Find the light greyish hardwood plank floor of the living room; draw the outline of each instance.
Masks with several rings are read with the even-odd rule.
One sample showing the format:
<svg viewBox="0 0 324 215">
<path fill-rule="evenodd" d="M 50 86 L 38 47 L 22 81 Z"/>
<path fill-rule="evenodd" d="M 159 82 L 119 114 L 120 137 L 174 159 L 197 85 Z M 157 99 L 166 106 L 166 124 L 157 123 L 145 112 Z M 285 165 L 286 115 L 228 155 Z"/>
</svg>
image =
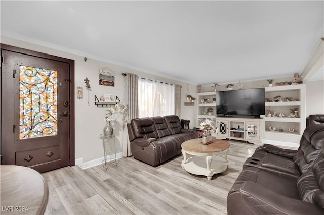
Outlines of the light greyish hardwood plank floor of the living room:
<svg viewBox="0 0 324 215">
<path fill-rule="evenodd" d="M 229 167 L 207 180 L 181 168 L 183 156 L 158 167 L 133 157 L 43 173 L 50 195 L 45 214 L 227 214 L 227 193 L 256 145 L 230 142 Z"/>
</svg>

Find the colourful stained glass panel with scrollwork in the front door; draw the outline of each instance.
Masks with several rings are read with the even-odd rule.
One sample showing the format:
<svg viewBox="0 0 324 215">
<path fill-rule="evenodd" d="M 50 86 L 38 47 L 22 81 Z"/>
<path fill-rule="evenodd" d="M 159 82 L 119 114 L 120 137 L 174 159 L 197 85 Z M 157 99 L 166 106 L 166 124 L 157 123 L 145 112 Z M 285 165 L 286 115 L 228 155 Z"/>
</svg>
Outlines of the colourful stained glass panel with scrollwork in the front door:
<svg viewBox="0 0 324 215">
<path fill-rule="evenodd" d="M 19 139 L 57 135 L 57 74 L 19 67 Z"/>
</svg>

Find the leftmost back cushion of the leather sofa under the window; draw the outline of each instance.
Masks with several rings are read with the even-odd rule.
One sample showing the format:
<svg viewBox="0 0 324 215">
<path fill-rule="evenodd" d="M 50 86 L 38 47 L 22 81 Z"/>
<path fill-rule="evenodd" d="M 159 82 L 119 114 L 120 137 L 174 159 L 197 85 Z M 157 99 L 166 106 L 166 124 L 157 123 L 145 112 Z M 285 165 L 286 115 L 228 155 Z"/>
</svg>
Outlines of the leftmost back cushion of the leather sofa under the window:
<svg viewBox="0 0 324 215">
<path fill-rule="evenodd" d="M 135 118 L 131 121 L 136 137 L 158 138 L 154 122 L 150 117 Z"/>
</svg>

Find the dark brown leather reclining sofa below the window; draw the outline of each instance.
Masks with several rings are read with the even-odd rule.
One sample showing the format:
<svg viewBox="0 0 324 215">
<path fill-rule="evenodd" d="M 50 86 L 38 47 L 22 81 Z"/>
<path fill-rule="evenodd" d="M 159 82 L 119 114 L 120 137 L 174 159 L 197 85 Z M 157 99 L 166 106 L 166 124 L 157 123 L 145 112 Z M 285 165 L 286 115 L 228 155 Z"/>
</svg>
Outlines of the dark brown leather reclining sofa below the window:
<svg viewBox="0 0 324 215">
<path fill-rule="evenodd" d="M 184 141 L 199 138 L 193 129 L 182 129 L 178 116 L 144 117 L 127 124 L 135 159 L 153 167 L 181 154 Z"/>
</svg>

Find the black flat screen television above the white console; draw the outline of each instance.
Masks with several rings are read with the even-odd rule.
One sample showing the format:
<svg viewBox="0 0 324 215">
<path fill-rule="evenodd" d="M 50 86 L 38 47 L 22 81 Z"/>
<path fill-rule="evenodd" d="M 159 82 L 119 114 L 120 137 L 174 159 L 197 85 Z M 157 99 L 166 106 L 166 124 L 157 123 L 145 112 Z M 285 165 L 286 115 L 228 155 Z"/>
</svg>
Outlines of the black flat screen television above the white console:
<svg viewBox="0 0 324 215">
<path fill-rule="evenodd" d="M 218 117 L 260 117 L 264 115 L 264 88 L 216 92 Z"/>
</svg>

